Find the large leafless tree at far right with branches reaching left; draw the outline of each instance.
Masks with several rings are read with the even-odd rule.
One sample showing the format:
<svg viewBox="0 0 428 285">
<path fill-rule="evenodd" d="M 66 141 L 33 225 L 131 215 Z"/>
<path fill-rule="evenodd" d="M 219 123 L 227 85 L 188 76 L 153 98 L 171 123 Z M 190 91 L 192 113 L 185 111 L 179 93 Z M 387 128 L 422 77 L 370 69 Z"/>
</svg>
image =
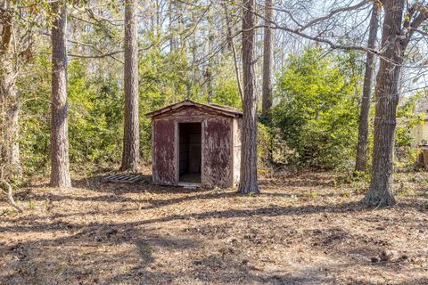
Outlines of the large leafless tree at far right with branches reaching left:
<svg viewBox="0 0 428 285">
<path fill-rule="evenodd" d="M 366 204 L 388 206 L 395 203 L 392 192 L 392 158 L 396 113 L 399 102 L 399 78 L 405 60 L 407 45 L 428 18 L 428 6 L 425 3 L 407 3 L 404 0 L 383 0 L 383 36 L 379 49 L 362 46 L 356 43 L 336 42 L 338 36 L 332 28 L 334 21 L 343 21 L 338 17 L 344 12 L 365 9 L 369 1 L 363 0 L 358 4 L 335 8 L 324 16 L 306 21 L 293 17 L 289 9 L 276 8 L 292 19 L 295 27 L 271 22 L 273 28 L 284 30 L 295 36 L 327 45 L 333 49 L 354 50 L 373 53 L 380 58 L 380 68 L 376 76 L 375 86 L 375 117 L 374 117 L 374 151 L 372 159 L 372 177 L 369 191 L 363 200 Z M 407 11 L 405 11 L 407 4 Z M 259 15 L 263 17 L 262 15 Z M 334 20 L 335 19 L 335 20 Z M 317 28 L 317 27 L 321 28 Z M 266 27 L 266 26 L 264 26 Z M 338 27 L 338 25 L 336 25 Z M 317 34 L 313 35 L 312 32 Z M 349 35 L 349 33 L 347 33 Z"/>
</svg>

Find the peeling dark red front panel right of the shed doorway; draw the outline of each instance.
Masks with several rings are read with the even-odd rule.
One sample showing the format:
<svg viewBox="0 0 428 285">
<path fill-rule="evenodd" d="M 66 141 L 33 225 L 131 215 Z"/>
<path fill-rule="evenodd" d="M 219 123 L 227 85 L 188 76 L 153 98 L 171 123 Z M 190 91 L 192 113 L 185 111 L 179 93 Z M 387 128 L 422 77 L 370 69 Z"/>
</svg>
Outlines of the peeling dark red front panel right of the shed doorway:
<svg viewBox="0 0 428 285">
<path fill-rule="evenodd" d="M 232 119 L 207 118 L 202 127 L 202 185 L 231 187 L 233 184 Z"/>
</svg>

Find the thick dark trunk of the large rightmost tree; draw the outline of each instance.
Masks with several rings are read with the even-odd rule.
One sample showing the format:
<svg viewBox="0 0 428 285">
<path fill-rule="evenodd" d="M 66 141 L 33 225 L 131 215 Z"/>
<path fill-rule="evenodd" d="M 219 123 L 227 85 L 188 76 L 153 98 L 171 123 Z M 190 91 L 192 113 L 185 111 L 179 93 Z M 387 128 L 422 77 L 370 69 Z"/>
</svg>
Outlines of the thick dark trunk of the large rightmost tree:
<svg viewBox="0 0 428 285">
<path fill-rule="evenodd" d="M 395 204 L 392 191 L 393 148 L 399 103 L 399 72 L 405 46 L 398 37 L 403 20 L 404 1 L 384 1 L 382 46 L 379 72 L 376 77 L 374 117 L 373 169 L 370 188 L 363 201 L 369 205 Z"/>
</svg>

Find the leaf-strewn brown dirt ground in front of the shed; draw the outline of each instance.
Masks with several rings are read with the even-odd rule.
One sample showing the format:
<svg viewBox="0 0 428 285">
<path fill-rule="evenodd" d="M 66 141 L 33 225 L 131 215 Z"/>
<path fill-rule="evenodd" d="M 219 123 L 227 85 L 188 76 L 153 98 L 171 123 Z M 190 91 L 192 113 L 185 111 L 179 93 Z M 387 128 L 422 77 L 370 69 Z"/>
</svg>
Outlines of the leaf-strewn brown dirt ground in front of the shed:
<svg viewBox="0 0 428 285">
<path fill-rule="evenodd" d="M 428 284 L 427 174 L 398 175 L 391 208 L 332 173 L 257 197 L 101 178 L 0 201 L 0 284 Z"/>
</svg>

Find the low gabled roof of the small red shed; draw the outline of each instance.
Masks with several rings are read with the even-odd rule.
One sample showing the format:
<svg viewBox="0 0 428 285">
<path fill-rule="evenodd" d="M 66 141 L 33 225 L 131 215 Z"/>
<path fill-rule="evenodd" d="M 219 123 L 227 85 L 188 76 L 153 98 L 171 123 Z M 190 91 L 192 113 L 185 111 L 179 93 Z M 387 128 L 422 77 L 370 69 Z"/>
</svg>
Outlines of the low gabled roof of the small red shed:
<svg viewBox="0 0 428 285">
<path fill-rule="evenodd" d="M 215 104 L 202 104 L 199 102 L 194 102 L 192 100 L 185 100 L 182 102 L 177 102 L 175 104 L 169 105 L 167 107 L 161 108 L 159 110 L 154 110 L 150 113 L 145 114 L 146 117 L 153 118 L 160 115 L 167 114 L 169 112 L 175 112 L 177 110 L 184 109 L 186 107 L 195 107 L 201 110 L 210 111 L 218 113 L 226 117 L 241 117 L 243 112 L 232 107 L 219 106 Z"/>
</svg>

